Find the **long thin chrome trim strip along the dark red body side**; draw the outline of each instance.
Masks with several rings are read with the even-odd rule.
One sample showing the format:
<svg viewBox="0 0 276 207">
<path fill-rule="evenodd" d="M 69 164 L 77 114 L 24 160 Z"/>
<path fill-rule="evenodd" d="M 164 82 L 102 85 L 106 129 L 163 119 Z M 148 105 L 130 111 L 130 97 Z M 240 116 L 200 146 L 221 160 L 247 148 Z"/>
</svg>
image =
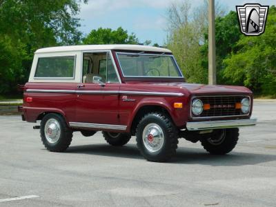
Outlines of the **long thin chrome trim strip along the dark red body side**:
<svg viewBox="0 0 276 207">
<path fill-rule="evenodd" d="M 128 91 L 128 90 L 55 90 L 55 89 L 27 89 L 26 92 L 57 92 L 57 93 L 77 93 L 77 94 L 128 94 L 128 95 L 160 95 L 160 96 L 184 96 L 181 92 L 148 92 L 148 91 Z"/>
</svg>

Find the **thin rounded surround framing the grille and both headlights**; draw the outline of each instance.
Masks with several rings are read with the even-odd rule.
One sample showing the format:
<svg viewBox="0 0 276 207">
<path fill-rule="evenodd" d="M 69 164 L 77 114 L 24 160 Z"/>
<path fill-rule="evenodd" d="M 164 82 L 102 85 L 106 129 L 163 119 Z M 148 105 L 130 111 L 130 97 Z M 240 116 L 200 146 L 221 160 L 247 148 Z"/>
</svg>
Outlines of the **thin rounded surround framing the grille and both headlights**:
<svg viewBox="0 0 276 207">
<path fill-rule="evenodd" d="M 246 115 L 232 115 L 232 116 L 217 116 L 217 117 L 194 117 L 193 116 L 193 112 L 192 112 L 192 103 L 193 100 L 196 98 L 200 98 L 200 97 L 248 97 L 249 98 L 249 103 L 250 103 L 250 110 L 248 110 L 248 113 Z M 190 117 L 192 119 L 215 119 L 215 118 L 223 118 L 223 117 L 246 117 L 250 114 L 251 111 L 251 97 L 248 95 L 198 95 L 198 96 L 194 96 L 192 97 L 192 99 L 190 99 Z"/>
</svg>

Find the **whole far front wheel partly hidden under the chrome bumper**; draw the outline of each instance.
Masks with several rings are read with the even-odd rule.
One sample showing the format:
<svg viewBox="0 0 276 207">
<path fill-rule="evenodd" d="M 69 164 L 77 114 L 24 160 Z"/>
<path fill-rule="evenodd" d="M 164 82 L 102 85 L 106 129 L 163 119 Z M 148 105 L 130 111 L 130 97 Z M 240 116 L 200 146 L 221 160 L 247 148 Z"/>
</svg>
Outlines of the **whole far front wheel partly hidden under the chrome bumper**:
<svg viewBox="0 0 276 207">
<path fill-rule="evenodd" d="M 201 145 L 213 155 L 225 155 L 235 148 L 239 139 L 239 128 L 215 130 L 210 137 L 201 139 Z"/>
</svg>

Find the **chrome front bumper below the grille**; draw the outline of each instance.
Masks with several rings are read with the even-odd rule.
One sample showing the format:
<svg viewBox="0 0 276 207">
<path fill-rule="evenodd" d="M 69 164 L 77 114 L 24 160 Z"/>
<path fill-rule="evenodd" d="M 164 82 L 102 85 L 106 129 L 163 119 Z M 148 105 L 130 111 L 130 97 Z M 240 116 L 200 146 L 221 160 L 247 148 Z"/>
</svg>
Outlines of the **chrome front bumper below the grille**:
<svg viewBox="0 0 276 207">
<path fill-rule="evenodd" d="M 223 120 L 223 121 L 196 121 L 187 122 L 186 128 L 189 131 L 193 130 L 210 130 L 216 128 L 236 128 L 241 126 L 253 126 L 256 125 L 257 119 L 235 119 L 235 120 Z"/>
</svg>

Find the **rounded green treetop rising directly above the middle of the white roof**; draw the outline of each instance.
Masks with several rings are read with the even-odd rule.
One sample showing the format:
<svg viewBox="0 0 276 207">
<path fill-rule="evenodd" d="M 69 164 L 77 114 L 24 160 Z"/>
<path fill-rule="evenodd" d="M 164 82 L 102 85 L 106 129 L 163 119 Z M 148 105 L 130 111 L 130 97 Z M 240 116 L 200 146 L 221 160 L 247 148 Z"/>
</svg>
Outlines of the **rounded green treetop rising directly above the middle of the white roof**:
<svg viewBox="0 0 276 207">
<path fill-rule="evenodd" d="M 128 34 L 127 30 L 119 27 L 117 30 L 99 28 L 83 38 L 84 44 L 137 44 L 139 43 L 134 33 Z"/>
</svg>

